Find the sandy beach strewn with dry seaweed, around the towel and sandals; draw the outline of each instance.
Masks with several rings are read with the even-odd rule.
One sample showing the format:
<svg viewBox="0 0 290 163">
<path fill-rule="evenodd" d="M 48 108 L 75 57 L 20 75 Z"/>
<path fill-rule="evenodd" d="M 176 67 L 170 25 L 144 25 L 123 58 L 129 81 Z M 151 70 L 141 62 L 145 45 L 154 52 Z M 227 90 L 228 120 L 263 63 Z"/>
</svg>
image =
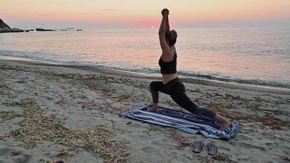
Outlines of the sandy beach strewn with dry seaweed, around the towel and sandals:
<svg viewBox="0 0 290 163">
<path fill-rule="evenodd" d="M 119 116 L 159 77 L 0 60 L 0 163 L 289 163 L 290 91 L 181 79 L 198 105 L 241 123 L 230 141 Z M 160 93 L 159 105 L 183 110 Z M 183 110 L 185 111 L 185 110 Z M 200 154 L 192 143 L 205 143 Z M 207 154 L 214 142 L 218 154 Z"/>
</svg>

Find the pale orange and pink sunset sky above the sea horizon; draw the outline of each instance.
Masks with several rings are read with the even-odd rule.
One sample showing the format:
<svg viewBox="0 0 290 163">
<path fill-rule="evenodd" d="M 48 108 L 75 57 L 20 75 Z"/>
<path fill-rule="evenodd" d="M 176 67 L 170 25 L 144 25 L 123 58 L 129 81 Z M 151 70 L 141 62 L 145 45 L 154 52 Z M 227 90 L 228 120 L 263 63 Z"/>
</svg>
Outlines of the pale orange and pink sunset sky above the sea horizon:
<svg viewBox="0 0 290 163">
<path fill-rule="evenodd" d="M 290 27 L 290 0 L 3 0 L 0 18 L 19 28 L 149 28 L 163 8 L 174 27 Z"/>
</svg>

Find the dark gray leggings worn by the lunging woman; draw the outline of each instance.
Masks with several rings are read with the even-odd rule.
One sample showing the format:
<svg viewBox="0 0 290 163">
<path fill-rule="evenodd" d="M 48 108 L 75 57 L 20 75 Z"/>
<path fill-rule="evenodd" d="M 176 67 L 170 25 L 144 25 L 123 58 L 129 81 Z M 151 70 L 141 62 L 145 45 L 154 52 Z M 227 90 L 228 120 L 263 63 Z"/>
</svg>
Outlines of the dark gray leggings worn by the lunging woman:
<svg viewBox="0 0 290 163">
<path fill-rule="evenodd" d="M 172 81 L 163 84 L 162 81 L 152 81 L 150 83 L 150 90 L 153 98 L 153 103 L 158 103 L 159 93 L 158 91 L 168 94 L 183 109 L 194 113 L 204 115 L 210 118 L 215 118 L 216 113 L 211 109 L 206 109 L 194 104 L 185 94 L 184 84 L 179 78 L 175 78 Z"/>
</svg>

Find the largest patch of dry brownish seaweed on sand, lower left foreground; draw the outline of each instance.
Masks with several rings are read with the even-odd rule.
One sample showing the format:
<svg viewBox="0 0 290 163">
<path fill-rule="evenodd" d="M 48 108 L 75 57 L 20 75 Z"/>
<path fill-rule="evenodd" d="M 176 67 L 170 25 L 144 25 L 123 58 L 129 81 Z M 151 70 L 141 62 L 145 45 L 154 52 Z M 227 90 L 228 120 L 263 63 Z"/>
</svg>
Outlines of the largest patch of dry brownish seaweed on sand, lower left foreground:
<svg viewBox="0 0 290 163">
<path fill-rule="evenodd" d="M 107 163 L 126 162 L 128 159 L 129 149 L 126 142 L 114 140 L 116 135 L 105 129 L 104 126 L 96 126 L 91 129 L 69 129 L 64 125 L 63 119 L 54 115 L 45 115 L 45 111 L 36 102 L 21 101 L 4 103 L 4 105 L 22 107 L 25 117 L 20 121 L 22 127 L 5 134 L 5 137 L 11 136 L 26 143 L 42 143 L 43 140 L 50 140 L 68 146 L 68 149 L 64 149 L 60 154 L 54 156 L 58 158 L 71 156 L 72 154 L 69 154 L 68 151 L 74 151 L 73 155 L 78 155 L 79 151 L 86 150 L 97 154 Z"/>
</svg>

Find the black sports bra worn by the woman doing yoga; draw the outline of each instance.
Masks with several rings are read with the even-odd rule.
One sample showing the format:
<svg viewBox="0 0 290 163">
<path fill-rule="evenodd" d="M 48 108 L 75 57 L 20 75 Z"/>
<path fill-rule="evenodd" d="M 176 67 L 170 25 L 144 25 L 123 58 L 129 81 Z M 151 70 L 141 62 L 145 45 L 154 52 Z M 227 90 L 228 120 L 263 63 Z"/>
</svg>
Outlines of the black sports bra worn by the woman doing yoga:
<svg viewBox="0 0 290 163">
<path fill-rule="evenodd" d="M 160 56 L 159 59 L 159 66 L 160 66 L 160 70 L 161 70 L 161 74 L 175 74 L 176 73 L 176 58 L 177 58 L 177 54 L 176 52 L 173 53 L 174 54 L 174 59 L 173 61 L 170 62 L 164 62 L 162 60 L 162 55 Z"/>
</svg>

